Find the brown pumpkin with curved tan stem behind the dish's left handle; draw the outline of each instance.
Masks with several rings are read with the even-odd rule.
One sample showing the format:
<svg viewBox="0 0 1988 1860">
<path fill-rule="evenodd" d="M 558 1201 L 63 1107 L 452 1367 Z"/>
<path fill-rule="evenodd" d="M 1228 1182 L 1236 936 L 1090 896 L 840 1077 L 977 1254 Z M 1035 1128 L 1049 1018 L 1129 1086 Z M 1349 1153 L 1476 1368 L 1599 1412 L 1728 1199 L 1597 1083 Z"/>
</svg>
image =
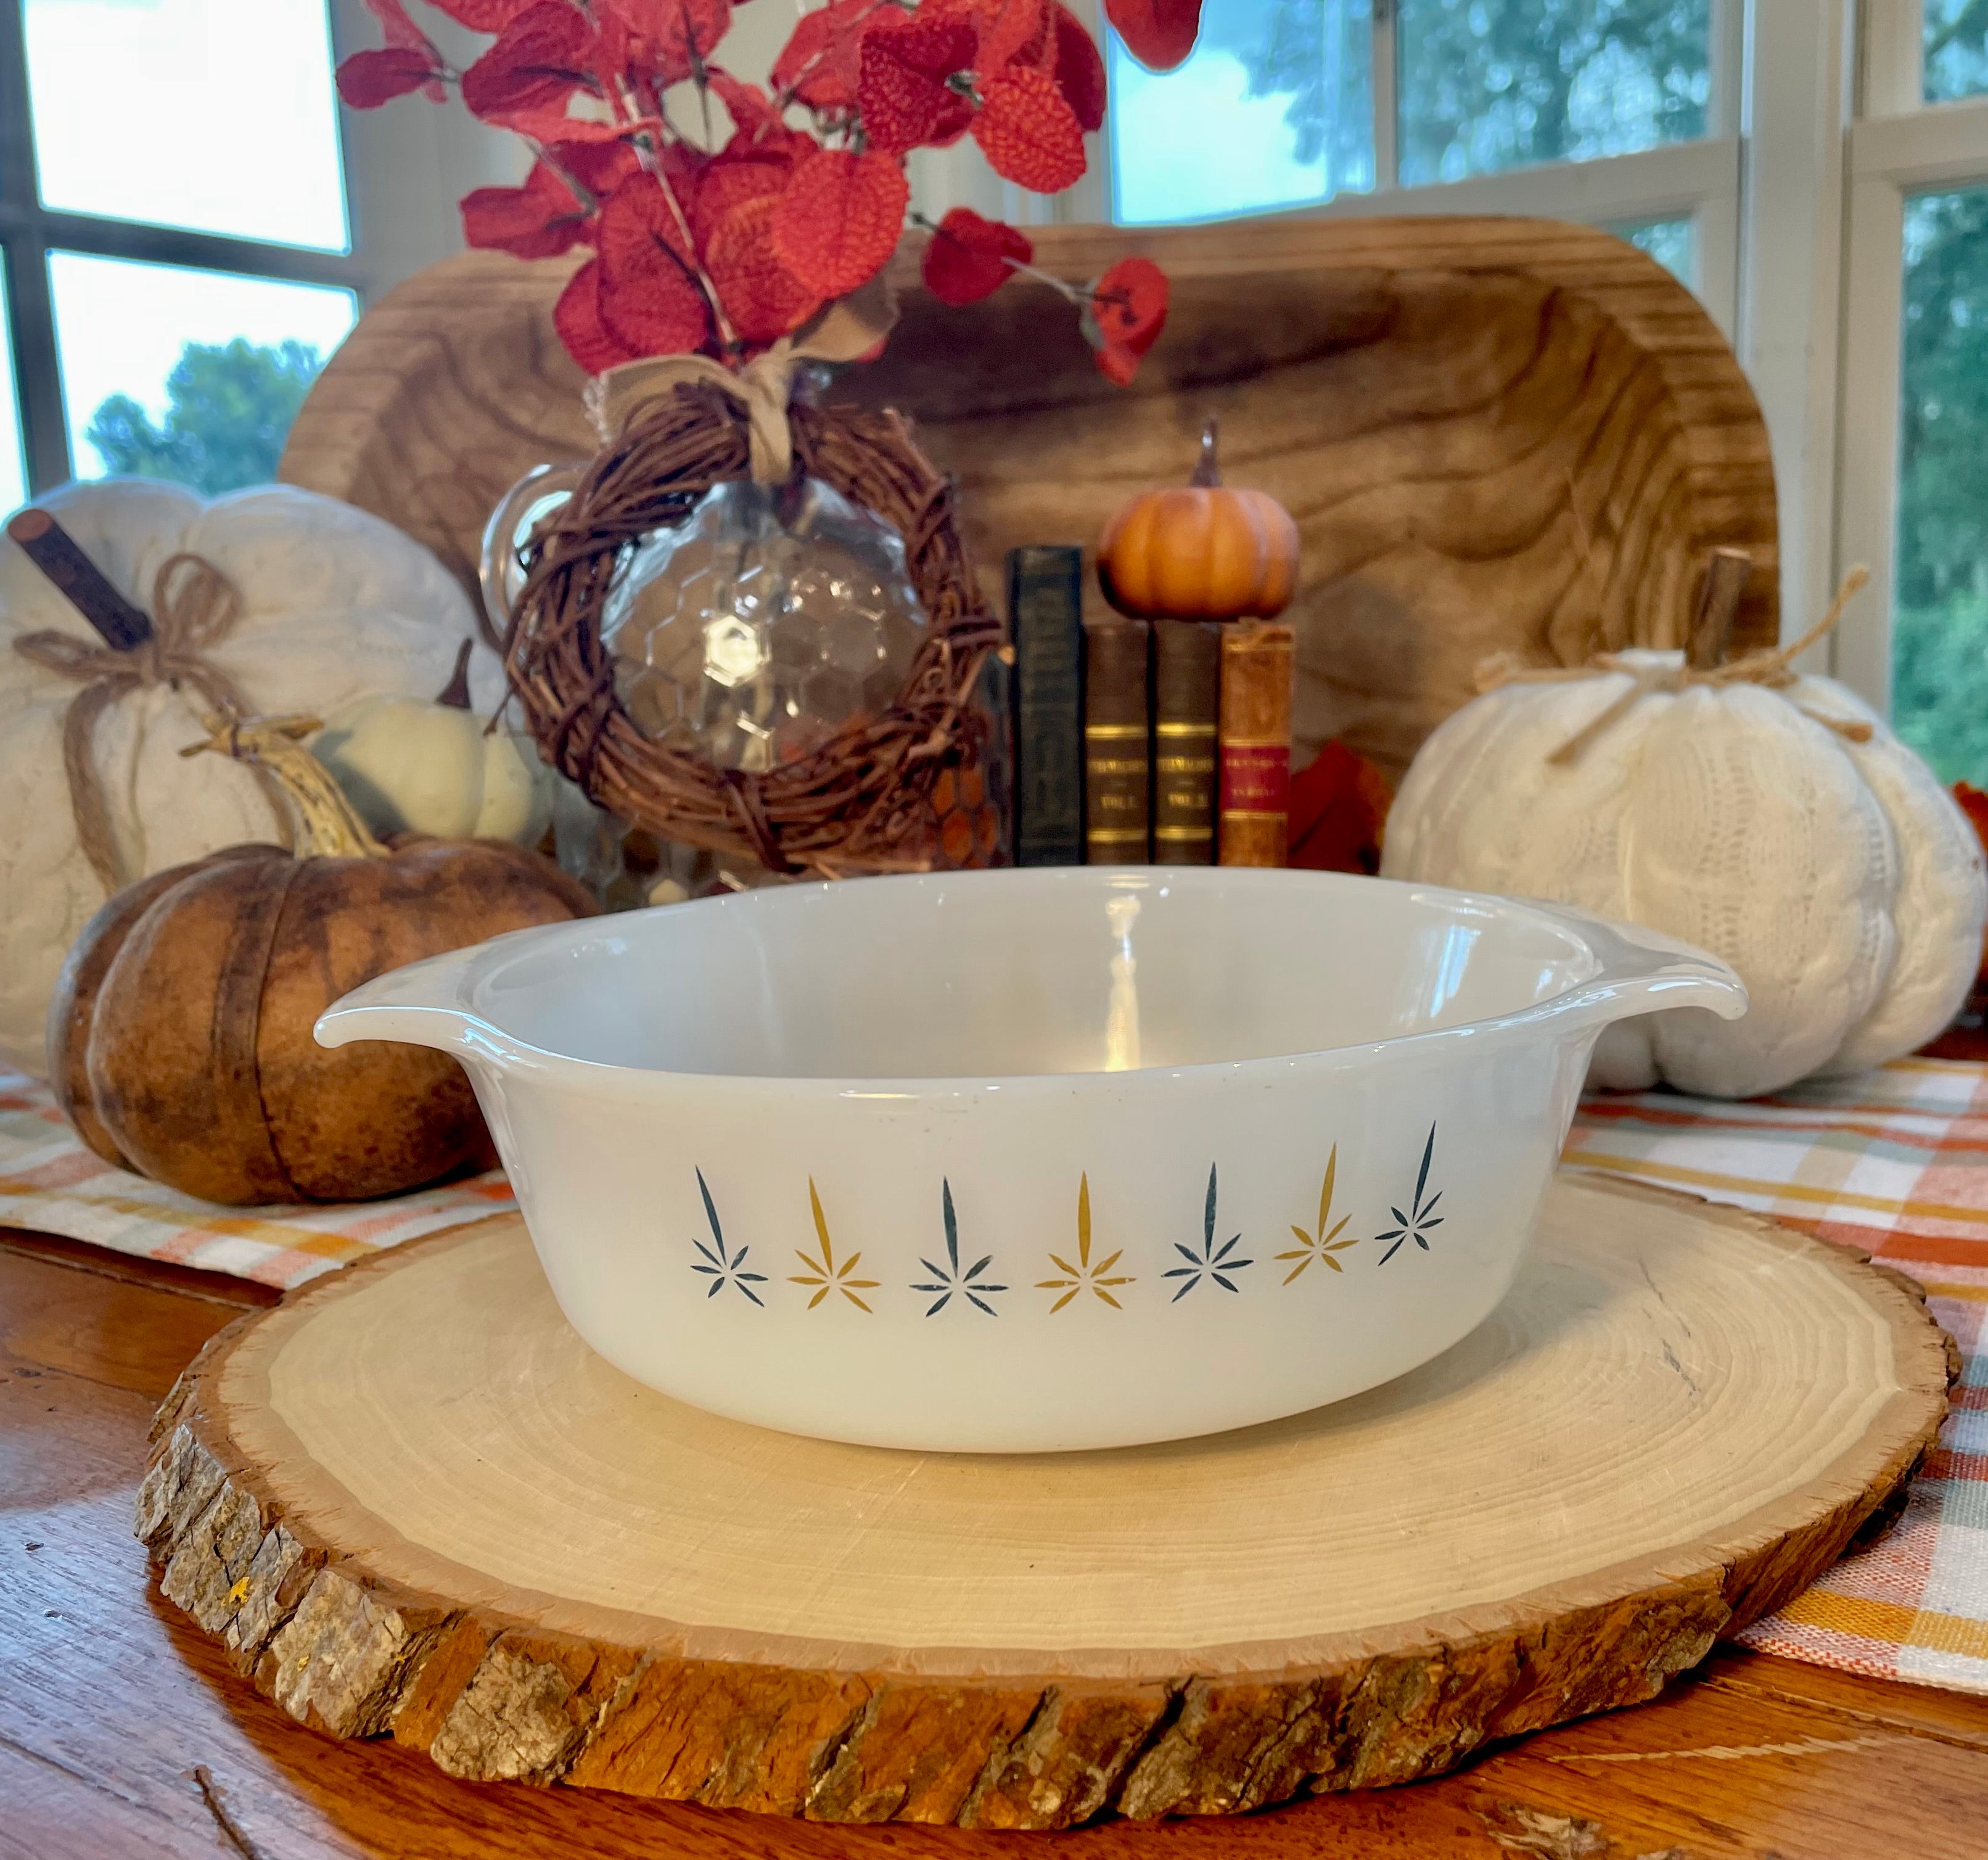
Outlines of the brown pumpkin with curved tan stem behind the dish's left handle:
<svg viewBox="0 0 1988 1860">
<path fill-rule="evenodd" d="M 364 828 L 300 738 L 316 718 L 217 724 L 185 754 L 266 768 L 296 853 L 231 845 L 119 891 L 70 949 L 48 1068 L 105 1162 L 203 1202 L 360 1202 L 495 1162 L 463 1068 L 312 1024 L 404 963 L 503 931 L 592 915 L 549 859 L 491 839 Z"/>
</svg>

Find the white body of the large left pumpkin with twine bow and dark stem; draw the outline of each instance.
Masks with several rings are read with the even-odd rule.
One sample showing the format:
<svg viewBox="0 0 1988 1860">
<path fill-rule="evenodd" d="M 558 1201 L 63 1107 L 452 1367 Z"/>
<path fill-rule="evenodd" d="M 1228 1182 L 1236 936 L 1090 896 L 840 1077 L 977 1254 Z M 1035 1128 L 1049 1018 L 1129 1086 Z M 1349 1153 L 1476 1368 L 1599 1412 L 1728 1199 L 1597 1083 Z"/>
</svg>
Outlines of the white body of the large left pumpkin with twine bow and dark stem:
<svg viewBox="0 0 1988 1860">
<path fill-rule="evenodd" d="M 195 551 L 241 591 L 243 611 L 205 652 L 258 712 L 324 714 L 372 692 L 427 696 L 475 633 L 469 597 L 435 557 L 334 497 L 268 485 L 205 501 L 181 485 L 109 479 L 36 499 L 137 607 L 151 609 L 167 557 Z M 40 1072 L 48 997 L 62 957 L 105 887 L 83 857 L 62 764 L 62 726 L 82 686 L 12 651 L 42 629 L 99 647 L 89 623 L 0 533 L 0 1064 Z M 471 690 L 503 692 L 479 649 Z M 155 684 L 111 702 L 91 748 L 125 879 L 286 826 L 250 772 L 183 760 L 205 704 Z"/>
</svg>

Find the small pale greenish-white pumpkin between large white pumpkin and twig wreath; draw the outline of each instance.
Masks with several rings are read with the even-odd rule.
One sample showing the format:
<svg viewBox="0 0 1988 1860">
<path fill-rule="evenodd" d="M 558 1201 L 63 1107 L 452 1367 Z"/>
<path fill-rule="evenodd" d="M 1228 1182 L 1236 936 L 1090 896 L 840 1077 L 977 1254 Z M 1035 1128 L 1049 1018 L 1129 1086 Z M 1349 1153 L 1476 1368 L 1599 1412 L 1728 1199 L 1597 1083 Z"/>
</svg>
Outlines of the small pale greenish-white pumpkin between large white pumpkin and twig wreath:
<svg viewBox="0 0 1988 1860">
<path fill-rule="evenodd" d="M 427 702 L 356 698 L 334 710 L 312 754 L 380 836 L 537 845 L 553 820 L 553 770 L 529 736 L 491 730 L 469 708 L 461 670 Z"/>
</svg>

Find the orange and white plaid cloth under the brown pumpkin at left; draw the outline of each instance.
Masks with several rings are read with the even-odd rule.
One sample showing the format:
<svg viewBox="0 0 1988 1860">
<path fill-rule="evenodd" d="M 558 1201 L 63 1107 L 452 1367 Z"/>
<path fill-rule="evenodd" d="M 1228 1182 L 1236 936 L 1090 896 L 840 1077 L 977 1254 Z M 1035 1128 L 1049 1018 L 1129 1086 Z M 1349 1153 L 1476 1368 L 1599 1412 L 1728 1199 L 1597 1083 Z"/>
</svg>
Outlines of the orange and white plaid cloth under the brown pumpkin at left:
<svg viewBox="0 0 1988 1860">
<path fill-rule="evenodd" d="M 215 1208 L 85 1150 L 46 1084 L 0 1068 L 0 1225 L 87 1239 L 288 1291 L 380 1247 L 511 1208 L 493 1170 L 392 1202 Z"/>
</svg>

